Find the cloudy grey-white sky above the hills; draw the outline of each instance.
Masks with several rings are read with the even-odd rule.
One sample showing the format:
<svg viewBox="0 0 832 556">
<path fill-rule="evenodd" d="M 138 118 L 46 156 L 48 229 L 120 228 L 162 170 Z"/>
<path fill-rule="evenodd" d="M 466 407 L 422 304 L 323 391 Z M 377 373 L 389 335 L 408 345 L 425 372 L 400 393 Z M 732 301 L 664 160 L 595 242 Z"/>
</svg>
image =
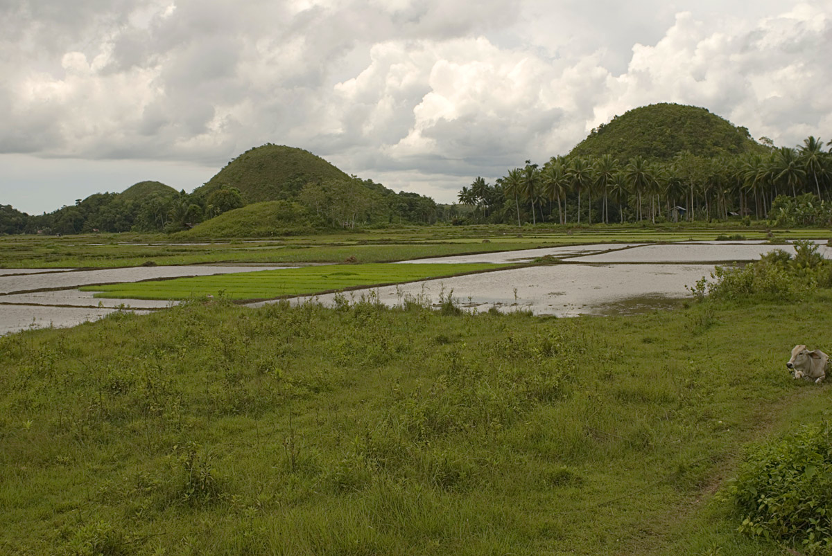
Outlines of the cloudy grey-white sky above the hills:
<svg viewBox="0 0 832 556">
<path fill-rule="evenodd" d="M 832 0 L 0 0 L 0 204 L 265 143 L 449 203 L 656 102 L 832 140 L 830 52 Z"/>
</svg>

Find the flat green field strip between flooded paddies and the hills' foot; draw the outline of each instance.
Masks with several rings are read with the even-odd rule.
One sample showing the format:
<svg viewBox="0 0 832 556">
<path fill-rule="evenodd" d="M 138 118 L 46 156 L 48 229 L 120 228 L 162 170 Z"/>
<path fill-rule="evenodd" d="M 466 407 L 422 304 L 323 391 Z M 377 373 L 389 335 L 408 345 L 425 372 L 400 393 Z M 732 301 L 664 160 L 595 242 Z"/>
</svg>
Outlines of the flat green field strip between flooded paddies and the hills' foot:
<svg viewBox="0 0 832 556">
<path fill-rule="evenodd" d="M 570 234 L 570 230 L 572 233 Z M 0 237 L 0 268 L 111 268 L 144 263 L 387 263 L 413 258 L 482 253 L 563 244 L 713 240 L 720 235 L 766 239 L 765 229 L 703 225 L 681 228 L 618 227 L 569 229 L 538 226 L 433 226 L 368 230 L 362 234 L 317 235 L 179 244 L 168 236 Z M 830 239 L 830 230 L 774 230 L 778 239 Z M 483 242 L 488 243 L 483 243 Z"/>
</svg>

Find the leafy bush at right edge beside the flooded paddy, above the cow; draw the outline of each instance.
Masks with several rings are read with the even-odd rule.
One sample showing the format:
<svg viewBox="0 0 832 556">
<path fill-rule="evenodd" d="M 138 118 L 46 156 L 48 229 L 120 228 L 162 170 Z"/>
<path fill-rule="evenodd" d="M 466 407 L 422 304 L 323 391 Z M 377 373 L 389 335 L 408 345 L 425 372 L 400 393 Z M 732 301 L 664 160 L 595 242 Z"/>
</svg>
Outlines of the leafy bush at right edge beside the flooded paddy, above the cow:
<svg viewBox="0 0 832 556">
<path fill-rule="evenodd" d="M 711 279 L 689 287 L 698 300 L 787 301 L 815 288 L 832 288 L 832 261 L 811 241 L 795 241 L 795 256 L 775 249 L 741 268 L 716 267 Z"/>
</svg>

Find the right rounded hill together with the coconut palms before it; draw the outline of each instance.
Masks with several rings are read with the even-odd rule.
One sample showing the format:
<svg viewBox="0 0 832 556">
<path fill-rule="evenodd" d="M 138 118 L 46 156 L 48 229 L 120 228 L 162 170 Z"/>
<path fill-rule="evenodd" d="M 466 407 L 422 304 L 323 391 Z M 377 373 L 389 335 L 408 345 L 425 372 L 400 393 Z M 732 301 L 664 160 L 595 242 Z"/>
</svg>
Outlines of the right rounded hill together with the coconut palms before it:
<svg viewBox="0 0 832 556">
<path fill-rule="evenodd" d="M 832 219 L 832 141 L 796 147 L 757 142 L 704 108 L 671 104 L 628 111 L 568 155 L 508 170 L 493 185 L 463 187 L 459 202 L 483 223 L 593 224 L 667 220 Z"/>
</svg>

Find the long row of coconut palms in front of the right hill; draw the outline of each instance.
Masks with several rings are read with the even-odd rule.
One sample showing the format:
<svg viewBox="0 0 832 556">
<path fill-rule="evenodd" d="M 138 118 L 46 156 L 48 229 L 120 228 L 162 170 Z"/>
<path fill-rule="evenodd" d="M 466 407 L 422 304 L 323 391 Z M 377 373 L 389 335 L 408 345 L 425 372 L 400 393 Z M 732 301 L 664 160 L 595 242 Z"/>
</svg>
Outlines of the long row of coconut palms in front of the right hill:
<svg viewBox="0 0 832 556">
<path fill-rule="evenodd" d="M 806 194 L 818 205 L 827 204 L 832 195 L 832 153 L 814 136 L 796 148 L 770 145 L 765 153 L 713 158 L 684 151 L 671 160 L 565 155 L 553 156 L 542 166 L 527 160 L 494 185 L 478 177 L 463 187 L 458 200 L 473 208 L 475 222 L 519 226 L 774 219 L 775 213 L 794 205 L 778 197 L 800 199 Z"/>
</svg>

